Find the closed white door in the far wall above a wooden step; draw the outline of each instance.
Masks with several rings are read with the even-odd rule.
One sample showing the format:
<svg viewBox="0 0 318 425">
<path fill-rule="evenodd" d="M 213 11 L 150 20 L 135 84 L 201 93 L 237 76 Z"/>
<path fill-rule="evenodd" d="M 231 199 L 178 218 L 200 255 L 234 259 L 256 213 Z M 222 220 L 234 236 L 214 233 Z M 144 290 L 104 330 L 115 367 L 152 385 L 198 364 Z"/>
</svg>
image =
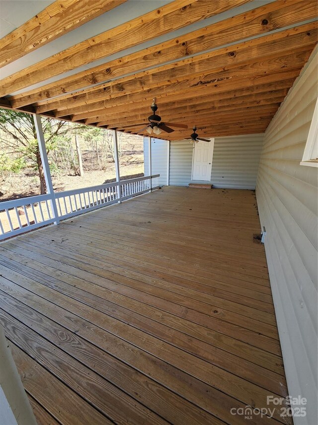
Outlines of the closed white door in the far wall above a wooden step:
<svg viewBox="0 0 318 425">
<path fill-rule="evenodd" d="M 214 139 L 211 142 L 194 142 L 192 180 L 211 180 Z"/>
</svg>

